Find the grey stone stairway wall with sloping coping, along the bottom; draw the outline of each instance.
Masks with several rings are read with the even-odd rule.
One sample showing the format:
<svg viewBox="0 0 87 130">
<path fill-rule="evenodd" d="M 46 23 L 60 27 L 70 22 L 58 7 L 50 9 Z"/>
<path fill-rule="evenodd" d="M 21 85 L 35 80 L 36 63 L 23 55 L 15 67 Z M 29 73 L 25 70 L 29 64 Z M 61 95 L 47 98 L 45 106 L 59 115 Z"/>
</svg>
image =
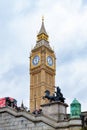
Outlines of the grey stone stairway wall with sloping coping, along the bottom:
<svg viewBox="0 0 87 130">
<path fill-rule="evenodd" d="M 0 130 L 79 130 L 80 119 L 57 122 L 43 114 L 33 115 L 12 108 L 0 109 Z"/>
</svg>

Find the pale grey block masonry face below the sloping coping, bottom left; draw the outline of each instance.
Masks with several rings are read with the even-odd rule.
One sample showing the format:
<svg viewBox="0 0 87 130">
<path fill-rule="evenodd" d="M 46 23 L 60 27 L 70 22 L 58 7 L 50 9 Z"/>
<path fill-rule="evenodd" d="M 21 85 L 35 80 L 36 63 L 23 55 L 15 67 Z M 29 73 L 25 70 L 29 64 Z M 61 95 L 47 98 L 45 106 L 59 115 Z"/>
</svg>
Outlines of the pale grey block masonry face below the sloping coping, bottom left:
<svg viewBox="0 0 87 130">
<path fill-rule="evenodd" d="M 22 114 L 26 112 L 21 112 L 22 114 L 18 112 L 19 115 L 17 115 L 16 112 L 9 110 L 0 112 L 0 130 L 54 130 L 44 122 L 35 122 L 32 115 L 30 115 L 30 120 L 28 117 L 23 117 Z M 26 114 L 29 116 L 28 113 Z"/>
</svg>

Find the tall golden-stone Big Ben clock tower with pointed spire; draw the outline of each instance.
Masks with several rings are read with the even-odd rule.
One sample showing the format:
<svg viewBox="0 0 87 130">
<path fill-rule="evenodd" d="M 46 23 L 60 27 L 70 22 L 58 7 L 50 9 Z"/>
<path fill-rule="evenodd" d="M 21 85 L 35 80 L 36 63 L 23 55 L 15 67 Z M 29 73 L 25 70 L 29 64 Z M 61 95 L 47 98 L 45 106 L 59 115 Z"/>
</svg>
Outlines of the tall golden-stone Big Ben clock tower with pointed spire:
<svg viewBox="0 0 87 130">
<path fill-rule="evenodd" d="M 39 109 L 43 100 L 45 90 L 54 93 L 56 58 L 44 27 L 42 18 L 41 29 L 37 35 L 35 47 L 30 54 L 30 111 Z"/>
</svg>

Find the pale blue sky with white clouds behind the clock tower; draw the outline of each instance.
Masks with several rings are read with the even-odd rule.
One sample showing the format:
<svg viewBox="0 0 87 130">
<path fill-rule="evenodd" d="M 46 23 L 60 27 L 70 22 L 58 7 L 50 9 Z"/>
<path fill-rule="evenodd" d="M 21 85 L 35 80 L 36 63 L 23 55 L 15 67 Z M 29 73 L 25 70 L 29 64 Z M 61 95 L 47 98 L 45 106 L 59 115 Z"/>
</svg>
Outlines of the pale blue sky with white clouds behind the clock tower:
<svg viewBox="0 0 87 130">
<path fill-rule="evenodd" d="M 0 0 L 0 97 L 29 107 L 29 55 L 44 15 L 56 86 L 87 111 L 87 0 Z M 68 108 L 69 111 L 69 108 Z"/>
</svg>

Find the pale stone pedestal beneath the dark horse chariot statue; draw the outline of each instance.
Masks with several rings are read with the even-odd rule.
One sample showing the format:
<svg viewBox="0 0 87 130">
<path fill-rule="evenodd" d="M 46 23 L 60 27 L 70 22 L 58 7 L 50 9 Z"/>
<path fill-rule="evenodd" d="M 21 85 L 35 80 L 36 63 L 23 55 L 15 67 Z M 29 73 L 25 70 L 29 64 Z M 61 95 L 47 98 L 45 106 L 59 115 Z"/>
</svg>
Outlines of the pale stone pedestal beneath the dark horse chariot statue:
<svg viewBox="0 0 87 130">
<path fill-rule="evenodd" d="M 43 115 L 52 118 L 55 121 L 63 121 L 66 119 L 67 107 L 66 103 L 62 102 L 51 102 L 41 105 Z"/>
</svg>

